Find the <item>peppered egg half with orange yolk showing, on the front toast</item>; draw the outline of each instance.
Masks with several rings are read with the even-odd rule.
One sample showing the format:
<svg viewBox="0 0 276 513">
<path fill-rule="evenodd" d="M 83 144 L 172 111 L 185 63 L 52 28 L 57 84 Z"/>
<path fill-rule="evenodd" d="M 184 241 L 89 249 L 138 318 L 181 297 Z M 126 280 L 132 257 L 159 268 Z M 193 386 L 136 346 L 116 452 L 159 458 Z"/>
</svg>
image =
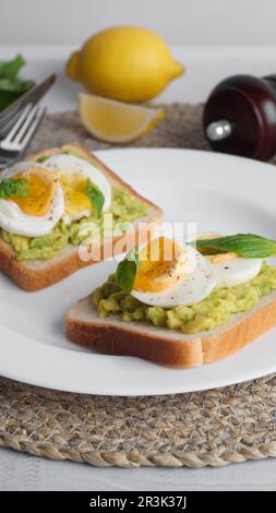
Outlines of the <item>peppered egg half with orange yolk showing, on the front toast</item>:
<svg viewBox="0 0 276 513">
<path fill-rule="evenodd" d="M 195 260 L 190 269 L 189 258 Z M 164 237 L 154 239 L 139 253 L 140 266 L 132 296 L 145 305 L 192 305 L 207 297 L 217 284 L 214 267 L 193 248 Z"/>
</svg>

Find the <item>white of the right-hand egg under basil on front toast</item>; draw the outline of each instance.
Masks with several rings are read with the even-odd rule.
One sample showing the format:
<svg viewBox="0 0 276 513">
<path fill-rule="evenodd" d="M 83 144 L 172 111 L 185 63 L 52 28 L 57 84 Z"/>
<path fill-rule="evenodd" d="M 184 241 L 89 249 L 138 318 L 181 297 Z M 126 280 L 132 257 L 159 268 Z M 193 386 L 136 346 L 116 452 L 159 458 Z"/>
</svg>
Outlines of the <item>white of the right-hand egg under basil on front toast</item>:
<svg viewBox="0 0 276 513">
<path fill-rule="evenodd" d="M 253 279 L 261 271 L 262 259 L 237 258 L 213 264 L 218 287 L 233 287 Z"/>
</svg>

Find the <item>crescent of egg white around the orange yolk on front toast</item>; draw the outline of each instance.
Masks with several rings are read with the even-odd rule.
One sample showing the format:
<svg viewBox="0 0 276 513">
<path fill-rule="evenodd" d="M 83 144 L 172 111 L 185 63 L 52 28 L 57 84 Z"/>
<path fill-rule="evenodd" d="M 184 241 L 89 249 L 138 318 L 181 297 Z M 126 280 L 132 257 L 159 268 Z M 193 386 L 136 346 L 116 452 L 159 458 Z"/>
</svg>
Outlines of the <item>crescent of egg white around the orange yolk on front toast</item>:
<svg viewBox="0 0 276 513">
<path fill-rule="evenodd" d="M 141 293 L 133 289 L 132 296 L 152 307 L 189 306 L 209 296 L 217 285 L 217 274 L 209 261 L 199 251 L 190 248 L 195 259 L 194 269 L 183 279 L 160 293 Z"/>
</svg>

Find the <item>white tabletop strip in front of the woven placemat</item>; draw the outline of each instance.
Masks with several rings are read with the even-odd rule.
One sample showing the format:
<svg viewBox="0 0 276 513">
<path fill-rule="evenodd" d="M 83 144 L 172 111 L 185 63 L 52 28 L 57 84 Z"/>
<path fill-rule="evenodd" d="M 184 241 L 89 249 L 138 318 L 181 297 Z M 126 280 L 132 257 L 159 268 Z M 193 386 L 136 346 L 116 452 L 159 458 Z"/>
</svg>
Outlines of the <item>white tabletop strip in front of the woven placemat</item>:
<svg viewBox="0 0 276 513">
<path fill-rule="evenodd" d="M 0 450 L 0 490 L 202 491 L 273 490 L 276 460 L 223 468 L 94 468 Z"/>
</svg>

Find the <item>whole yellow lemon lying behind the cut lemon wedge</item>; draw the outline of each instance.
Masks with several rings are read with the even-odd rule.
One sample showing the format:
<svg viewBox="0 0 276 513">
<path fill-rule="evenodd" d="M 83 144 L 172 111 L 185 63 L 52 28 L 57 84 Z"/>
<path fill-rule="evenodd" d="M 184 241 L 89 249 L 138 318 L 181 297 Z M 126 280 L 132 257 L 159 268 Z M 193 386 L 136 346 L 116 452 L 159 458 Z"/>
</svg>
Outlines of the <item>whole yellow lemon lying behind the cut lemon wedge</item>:
<svg viewBox="0 0 276 513">
<path fill-rule="evenodd" d="M 159 36 L 134 26 L 99 32 L 67 64 L 68 75 L 89 92 L 130 103 L 153 98 L 183 71 Z"/>
</svg>

